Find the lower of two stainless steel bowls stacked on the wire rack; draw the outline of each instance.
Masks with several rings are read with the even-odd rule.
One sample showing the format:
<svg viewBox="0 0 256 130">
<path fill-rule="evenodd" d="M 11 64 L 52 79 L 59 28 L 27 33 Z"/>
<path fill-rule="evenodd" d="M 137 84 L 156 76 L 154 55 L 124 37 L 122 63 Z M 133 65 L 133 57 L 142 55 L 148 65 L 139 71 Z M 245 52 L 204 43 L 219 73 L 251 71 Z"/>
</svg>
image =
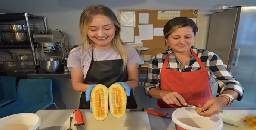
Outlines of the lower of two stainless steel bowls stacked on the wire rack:
<svg viewBox="0 0 256 130">
<path fill-rule="evenodd" d="M 1 41 L 6 44 L 28 43 L 28 33 L 26 32 L 0 32 Z"/>
</svg>

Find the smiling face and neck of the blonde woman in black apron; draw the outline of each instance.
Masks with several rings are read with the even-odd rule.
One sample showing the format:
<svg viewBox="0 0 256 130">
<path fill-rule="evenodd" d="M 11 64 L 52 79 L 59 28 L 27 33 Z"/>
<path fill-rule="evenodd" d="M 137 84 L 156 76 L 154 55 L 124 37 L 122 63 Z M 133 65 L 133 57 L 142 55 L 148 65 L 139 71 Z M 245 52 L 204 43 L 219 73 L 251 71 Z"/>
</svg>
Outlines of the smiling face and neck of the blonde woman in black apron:
<svg viewBox="0 0 256 130">
<path fill-rule="evenodd" d="M 89 25 L 87 35 L 93 41 L 95 48 L 110 49 L 115 35 L 115 25 L 107 16 L 95 15 Z"/>
</svg>

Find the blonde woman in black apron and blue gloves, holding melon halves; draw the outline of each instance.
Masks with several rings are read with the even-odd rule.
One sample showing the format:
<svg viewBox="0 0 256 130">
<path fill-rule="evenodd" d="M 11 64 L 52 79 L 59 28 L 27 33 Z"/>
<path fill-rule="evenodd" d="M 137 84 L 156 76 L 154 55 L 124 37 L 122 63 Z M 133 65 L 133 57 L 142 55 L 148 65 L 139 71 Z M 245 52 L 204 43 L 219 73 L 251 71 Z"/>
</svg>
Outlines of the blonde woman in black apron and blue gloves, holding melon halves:
<svg viewBox="0 0 256 130">
<path fill-rule="evenodd" d="M 138 85 L 141 59 L 136 49 L 122 42 L 114 12 L 102 5 L 89 6 L 81 14 L 79 26 L 83 44 L 71 50 L 67 65 L 73 89 L 82 92 L 79 109 L 90 109 L 90 91 L 96 84 L 110 87 L 116 82 L 126 90 L 126 108 L 137 108 L 130 89 Z"/>
</svg>

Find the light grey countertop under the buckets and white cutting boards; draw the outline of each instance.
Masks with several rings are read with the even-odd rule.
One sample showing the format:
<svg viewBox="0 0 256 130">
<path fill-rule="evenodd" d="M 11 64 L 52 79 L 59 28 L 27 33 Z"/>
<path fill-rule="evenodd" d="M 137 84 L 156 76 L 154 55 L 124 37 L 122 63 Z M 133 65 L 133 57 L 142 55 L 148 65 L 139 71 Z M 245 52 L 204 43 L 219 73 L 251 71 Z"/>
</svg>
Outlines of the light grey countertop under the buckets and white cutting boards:
<svg viewBox="0 0 256 130">
<path fill-rule="evenodd" d="M 175 111 L 175 108 L 162 108 L 162 109 L 153 109 L 157 111 L 166 112 L 172 114 Z M 255 107 L 227 107 L 223 110 L 256 110 Z M 75 109 L 69 110 L 39 110 L 36 112 L 41 118 L 40 130 L 59 130 L 68 119 L 71 113 Z M 90 110 L 81 110 L 81 112 L 87 112 Z M 127 109 L 126 111 L 142 111 L 141 109 Z M 171 118 L 164 118 L 161 116 L 155 116 L 148 114 L 149 123 L 152 130 L 174 130 L 175 123 L 173 123 Z"/>
</svg>

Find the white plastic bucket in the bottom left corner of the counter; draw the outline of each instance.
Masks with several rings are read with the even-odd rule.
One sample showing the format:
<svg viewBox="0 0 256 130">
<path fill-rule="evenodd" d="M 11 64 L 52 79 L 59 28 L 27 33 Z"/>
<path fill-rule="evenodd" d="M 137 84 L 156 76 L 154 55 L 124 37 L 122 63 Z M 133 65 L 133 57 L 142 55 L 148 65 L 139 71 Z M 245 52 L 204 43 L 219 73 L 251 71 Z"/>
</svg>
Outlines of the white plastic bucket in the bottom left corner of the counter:
<svg viewBox="0 0 256 130">
<path fill-rule="evenodd" d="M 18 113 L 0 119 L 0 130 L 39 130 L 41 118 L 34 113 Z"/>
</svg>

